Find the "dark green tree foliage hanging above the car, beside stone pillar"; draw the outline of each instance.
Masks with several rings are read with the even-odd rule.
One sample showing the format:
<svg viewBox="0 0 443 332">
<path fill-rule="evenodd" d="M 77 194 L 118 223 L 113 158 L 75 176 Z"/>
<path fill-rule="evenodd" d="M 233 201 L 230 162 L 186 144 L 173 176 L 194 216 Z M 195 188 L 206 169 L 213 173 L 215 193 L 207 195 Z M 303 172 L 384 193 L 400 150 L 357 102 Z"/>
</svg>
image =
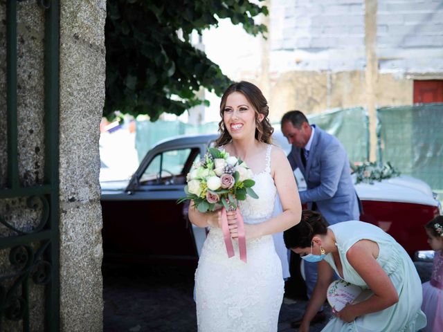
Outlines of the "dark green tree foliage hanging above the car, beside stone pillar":
<svg viewBox="0 0 443 332">
<path fill-rule="evenodd" d="M 190 34 L 223 18 L 251 35 L 264 33 L 253 20 L 259 14 L 268 14 L 266 6 L 247 0 L 108 0 L 104 115 L 118 110 L 154 121 L 204 102 L 196 96 L 200 86 L 221 95 L 230 80 L 190 44 Z"/>
</svg>

